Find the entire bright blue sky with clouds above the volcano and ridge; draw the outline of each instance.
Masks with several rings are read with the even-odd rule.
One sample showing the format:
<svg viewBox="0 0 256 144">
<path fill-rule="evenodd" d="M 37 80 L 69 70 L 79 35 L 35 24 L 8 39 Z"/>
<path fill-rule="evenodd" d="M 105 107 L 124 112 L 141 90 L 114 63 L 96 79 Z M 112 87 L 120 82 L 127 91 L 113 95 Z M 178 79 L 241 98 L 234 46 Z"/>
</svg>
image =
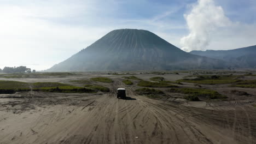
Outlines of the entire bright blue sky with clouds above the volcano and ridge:
<svg viewBox="0 0 256 144">
<path fill-rule="evenodd" d="M 0 68 L 47 69 L 120 28 L 146 29 L 187 51 L 256 45 L 256 1 L 200 1 L 221 9 L 208 12 L 197 0 L 0 0 Z M 204 19 L 197 17 L 201 13 Z M 222 19 L 207 22 L 216 14 Z"/>
</svg>

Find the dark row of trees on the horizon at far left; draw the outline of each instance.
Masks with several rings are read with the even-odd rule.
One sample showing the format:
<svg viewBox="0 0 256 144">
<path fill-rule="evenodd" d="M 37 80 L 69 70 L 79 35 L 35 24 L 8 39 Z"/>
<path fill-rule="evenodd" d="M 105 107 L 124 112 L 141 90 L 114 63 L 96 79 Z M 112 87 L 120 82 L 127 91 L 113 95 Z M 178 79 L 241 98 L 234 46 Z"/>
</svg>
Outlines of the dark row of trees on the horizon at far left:
<svg viewBox="0 0 256 144">
<path fill-rule="evenodd" d="M 4 67 L 0 68 L 0 73 L 36 73 L 36 70 L 32 70 L 31 68 L 27 68 L 26 66 L 20 67 Z"/>
</svg>

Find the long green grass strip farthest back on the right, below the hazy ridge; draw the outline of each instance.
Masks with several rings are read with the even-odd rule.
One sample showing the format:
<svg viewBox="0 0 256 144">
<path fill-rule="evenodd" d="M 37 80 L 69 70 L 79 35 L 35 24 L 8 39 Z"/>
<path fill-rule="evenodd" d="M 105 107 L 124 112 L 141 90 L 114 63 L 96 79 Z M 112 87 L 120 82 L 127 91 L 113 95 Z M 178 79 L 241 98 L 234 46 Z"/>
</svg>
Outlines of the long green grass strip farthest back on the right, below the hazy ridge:
<svg viewBox="0 0 256 144">
<path fill-rule="evenodd" d="M 237 76 L 232 75 L 202 75 L 197 76 L 195 79 L 181 79 L 177 82 L 189 82 L 197 84 L 225 84 L 225 83 L 235 83 L 239 81 Z"/>
</svg>

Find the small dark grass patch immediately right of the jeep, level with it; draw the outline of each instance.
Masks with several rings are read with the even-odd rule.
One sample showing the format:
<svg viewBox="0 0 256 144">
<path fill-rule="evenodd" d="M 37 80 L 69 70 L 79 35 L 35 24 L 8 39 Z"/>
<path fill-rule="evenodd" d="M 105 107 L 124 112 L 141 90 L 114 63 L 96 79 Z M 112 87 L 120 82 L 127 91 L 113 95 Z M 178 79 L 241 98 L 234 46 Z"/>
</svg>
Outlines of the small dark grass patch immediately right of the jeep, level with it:
<svg viewBox="0 0 256 144">
<path fill-rule="evenodd" d="M 149 98 L 162 98 L 164 92 L 154 88 L 139 88 L 135 92 L 138 95 L 146 95 Z"/>
</svg>

